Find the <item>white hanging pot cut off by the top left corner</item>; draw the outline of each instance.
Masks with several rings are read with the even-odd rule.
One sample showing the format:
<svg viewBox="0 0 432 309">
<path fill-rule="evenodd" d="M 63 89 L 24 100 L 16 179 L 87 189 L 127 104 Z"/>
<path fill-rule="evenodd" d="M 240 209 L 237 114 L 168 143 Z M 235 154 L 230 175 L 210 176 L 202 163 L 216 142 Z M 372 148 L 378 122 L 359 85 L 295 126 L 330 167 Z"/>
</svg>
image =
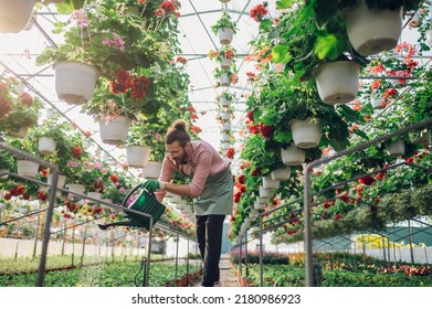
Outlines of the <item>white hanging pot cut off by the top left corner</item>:
<svg viewBox="0 0 432 309">
<path fill-rule="evenodd" d="M 0 0 L 0 32 L 17 33 L 31 18 L 35 0 Z"/>
</svg>

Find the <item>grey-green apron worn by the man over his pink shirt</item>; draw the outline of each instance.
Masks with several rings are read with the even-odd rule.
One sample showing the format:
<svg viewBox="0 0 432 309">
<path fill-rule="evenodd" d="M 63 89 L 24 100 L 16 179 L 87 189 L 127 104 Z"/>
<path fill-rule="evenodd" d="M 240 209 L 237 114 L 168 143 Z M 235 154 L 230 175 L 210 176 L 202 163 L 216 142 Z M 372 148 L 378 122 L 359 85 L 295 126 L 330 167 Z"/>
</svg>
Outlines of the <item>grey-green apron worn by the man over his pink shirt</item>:
<svg viewBox="0 0 432 309">
<path fill-rule="evenodd" d="M 231 170 L 207 178 L 201 195 L 193 199 L 196 215 L 232 214 L 233 179 Z"/>
</svg>

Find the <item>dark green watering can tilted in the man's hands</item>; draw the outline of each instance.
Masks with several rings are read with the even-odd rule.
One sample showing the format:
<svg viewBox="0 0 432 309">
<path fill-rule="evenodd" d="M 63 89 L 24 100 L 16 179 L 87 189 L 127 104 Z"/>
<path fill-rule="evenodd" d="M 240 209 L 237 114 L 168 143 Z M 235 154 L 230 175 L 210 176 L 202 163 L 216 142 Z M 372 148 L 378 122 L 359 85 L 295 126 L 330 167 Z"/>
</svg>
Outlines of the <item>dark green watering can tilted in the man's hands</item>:
<svg viewBox="0 0 432 309">
<path fill-rule="evenodd" d="M 127 207 L 127 201 L 129 198 L 141 188 L 141 184 L 138 184 L 135 187 L 123 200 L 122 206 Z M 143 189 L 141 193 L 135 199 L 134 202 L 130 203 L 128 206 L 130 210 L 139 211 L 146 214 L 151 215 L 152 217 L 152 224 L 155 224 L 160 216 L 164 214 L 166 206 L 159 203 L 155 199 L 154 194 L 148 193 L 145 189 Z M 113 222 L 113 223 L 106 223 L 106 224 L 98 224 L 101 230 L 106 230 L 109 226 L 133 226 L 133 227 L 146 227 L 147 231 L 150 230 L 150 217 L 144 216 L 134 212 L 129 212 L 125 210 L 126 217 L 128 221 L 119 221 L 119 222 Z"/>
</svg>

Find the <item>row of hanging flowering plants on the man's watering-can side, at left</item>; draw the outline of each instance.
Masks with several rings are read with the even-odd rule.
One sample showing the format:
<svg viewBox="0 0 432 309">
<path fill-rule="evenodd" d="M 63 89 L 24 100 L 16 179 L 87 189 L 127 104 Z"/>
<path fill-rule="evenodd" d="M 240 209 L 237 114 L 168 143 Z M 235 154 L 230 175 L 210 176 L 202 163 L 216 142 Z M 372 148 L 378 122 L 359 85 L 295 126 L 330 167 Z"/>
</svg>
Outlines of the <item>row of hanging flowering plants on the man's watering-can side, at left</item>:
<svg viewBox="0 0 432 309">
<path fill-rule="evenodd" d="M 138 178 L 158 178 L 165 157 L 162 135 L 176 119 L 193 121 L 198 118 L 187 95 L 187 61 L 175 57 L 180 52 L 177 41 L 179 2 L 63 1 L 56 7 L 59 13 L 66 13 L 59 20 L 65 18 L 66 21 L 55 23 L 53 32 L 63 35 L 64 41 L 44 49 L 35 62 L 53 66 L 59 98 L 81 105 L 81 111 L 99 124 L 103 142 L 124 147 L 126 158 L 114 169 L 113 164 L 101 160 L 99 150 L 94 153 L 87 148 L 92 146 L 94 132 L 76 130 L 55 115 L 42 119 L 41 99 L 22 90 L 20 81 L 8 73 L 0 79 L 0 98 L 4 103 L 0 109 L 0 131 L 7 143 L 57 164 L 60 188 L 66 184 L 73 192 L 119 204 L 139 181 L 127 173 L 128 168 L 144 168 Z M 43 10 L 43 7 L 35 9 Z M 76 87 L 71 84 L 75 82 Z M 84 93 L 75 89 L 84 89 Z M 21 127 L 25 129 L 15 138 Z M 113 131 L 105 131 L 108 127 Z M 200 131 L 196 126 L 192 128 L 192 135 Z M 48 143 L 41 146 L 42 141 Z M 140 154 L 135 157 L 134 150 L 139 150 Z M 21 171 L 23 160 L 20 158 L 1 151 L 0 160 L 2 169 L 50 181 L 49 171 L 38 164 L 25 161 L 25 166 L 32 168 L 27 173 Z M 46 189 L 30 181 L 8 180 L 1 183 L 1 199 L 8 207 L 10 195 L 13 200 L 23 198 L 14 195 L 12 190 L 20 185 L 25 198 L 46 201 Z M 80 214 L 80 220 L 91 220 L 87 214 L 95 213 L 98 219 L 109 222 L 123 219 L 118 212 L 113 214 L 113 210 L 61 201 L 65 196 L 60 192 L 57 198 L 57 204 L 62 206 L 56 214 L 61 219 L 76 220 Z M 168 213 L 165 220 L 193 232 L 190 224 L 183 222 L 183 216 Z"/>
</svg>

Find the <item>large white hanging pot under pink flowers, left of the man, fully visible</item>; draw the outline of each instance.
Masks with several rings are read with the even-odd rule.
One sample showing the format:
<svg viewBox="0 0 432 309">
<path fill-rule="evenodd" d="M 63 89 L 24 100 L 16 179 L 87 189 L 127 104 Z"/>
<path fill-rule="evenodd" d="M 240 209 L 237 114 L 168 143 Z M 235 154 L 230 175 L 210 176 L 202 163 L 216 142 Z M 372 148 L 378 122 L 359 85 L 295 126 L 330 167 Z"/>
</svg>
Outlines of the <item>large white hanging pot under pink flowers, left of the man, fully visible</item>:
<svg viewBox="0 0 432 309">
<path fill-rule="evenodd" d="M 101 73 L 92 65 L 64 61 L 54 64 L 55 92 L 67 104 L 81 105 L 93 95 Z"/>
</svg>

